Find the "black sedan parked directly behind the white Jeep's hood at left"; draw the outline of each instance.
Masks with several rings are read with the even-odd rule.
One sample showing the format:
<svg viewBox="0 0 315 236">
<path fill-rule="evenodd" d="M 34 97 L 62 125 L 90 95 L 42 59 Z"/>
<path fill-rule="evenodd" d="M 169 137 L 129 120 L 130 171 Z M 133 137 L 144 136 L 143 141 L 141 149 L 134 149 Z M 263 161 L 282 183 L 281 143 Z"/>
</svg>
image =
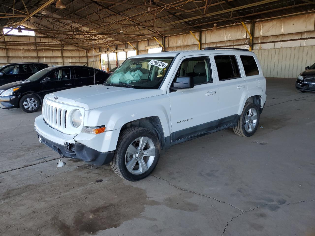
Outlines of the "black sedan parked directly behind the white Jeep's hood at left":
<svg viewBox="0 0 315 236">
<path fill-rule="evenodd" d="M 95 75 L 95 76 L 94 76 Z M 59 90 L 102 84 L 109 77 L 106 72 L 88 66 L 54 66 L 38 71 L 26 80 L 0 86 L 0 107 L 21 108 L 35 112 L 48 93 Z"/>
</svg>

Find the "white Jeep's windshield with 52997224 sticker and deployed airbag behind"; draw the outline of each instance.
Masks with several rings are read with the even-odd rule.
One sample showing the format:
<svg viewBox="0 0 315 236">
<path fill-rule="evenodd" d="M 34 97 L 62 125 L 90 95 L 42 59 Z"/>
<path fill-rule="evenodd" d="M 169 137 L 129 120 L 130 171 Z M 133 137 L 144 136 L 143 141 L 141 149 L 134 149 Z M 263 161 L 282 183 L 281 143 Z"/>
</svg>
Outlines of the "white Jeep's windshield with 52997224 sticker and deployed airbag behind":
<svg viewBox="0 0 315 236">
<path fill-rule="evenodd" d="M 128 84 L 127 87 L 158 89 L 173 59 L 174 57 L 127 59 L 106 80 L 105 84 L 112 86 Z"/>
</svg>

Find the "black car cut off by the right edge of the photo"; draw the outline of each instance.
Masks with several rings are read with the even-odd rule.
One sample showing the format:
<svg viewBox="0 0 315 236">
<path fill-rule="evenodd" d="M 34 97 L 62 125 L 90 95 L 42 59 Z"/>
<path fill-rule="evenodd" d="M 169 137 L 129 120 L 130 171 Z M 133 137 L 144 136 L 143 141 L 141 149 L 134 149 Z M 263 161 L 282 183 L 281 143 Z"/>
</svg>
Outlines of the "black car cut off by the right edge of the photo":
<svg viewBox="0 0 315 236">
<path fill-rule="evenodd" d="M 315 92 L 315 63 L 311 66 L 306 66 L 305 70 L 297 76 L 295 88 L 299 93 Z"/>
</svg>

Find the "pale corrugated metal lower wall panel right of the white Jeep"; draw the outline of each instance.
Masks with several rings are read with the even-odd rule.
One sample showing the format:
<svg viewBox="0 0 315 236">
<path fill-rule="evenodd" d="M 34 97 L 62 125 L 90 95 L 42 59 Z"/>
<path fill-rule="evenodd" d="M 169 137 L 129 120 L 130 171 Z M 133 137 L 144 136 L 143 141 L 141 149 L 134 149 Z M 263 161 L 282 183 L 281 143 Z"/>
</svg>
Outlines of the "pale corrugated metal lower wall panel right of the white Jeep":
<svg viewBox="0 0 315 236">
<path fill-rule="evenodd" d="M 297 77 L 315 62 L 315 46 L 273 48 L 253 51 L 261 63 L 265 77 Z"/>
</svg>

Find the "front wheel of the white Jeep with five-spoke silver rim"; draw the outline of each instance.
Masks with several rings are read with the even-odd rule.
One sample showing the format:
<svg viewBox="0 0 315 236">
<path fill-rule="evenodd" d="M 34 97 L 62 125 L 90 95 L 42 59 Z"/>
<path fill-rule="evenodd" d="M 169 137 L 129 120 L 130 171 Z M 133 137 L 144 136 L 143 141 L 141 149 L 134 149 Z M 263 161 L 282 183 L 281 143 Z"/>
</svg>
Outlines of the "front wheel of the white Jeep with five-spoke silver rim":
<svg viewBox="0 0 315 236">
<path fill-rule="evenodd" d="M 159 157 L 156 134 L 146 128 L 130 127 L 120 134 L 111 167 L 123 179 L 138 181 L 154 170 Z"/>
</svg>

